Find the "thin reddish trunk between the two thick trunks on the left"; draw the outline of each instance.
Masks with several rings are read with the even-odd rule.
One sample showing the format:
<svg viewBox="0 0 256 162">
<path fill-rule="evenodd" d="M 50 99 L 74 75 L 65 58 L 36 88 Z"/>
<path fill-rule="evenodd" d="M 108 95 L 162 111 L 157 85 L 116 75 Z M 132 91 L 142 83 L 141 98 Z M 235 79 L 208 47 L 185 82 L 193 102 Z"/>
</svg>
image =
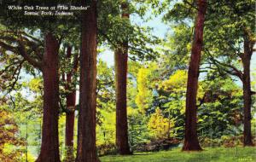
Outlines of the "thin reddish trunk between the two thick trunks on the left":
<svg viewBox="0 0 256 162">
<path fill-rule="evenodd" d="M 67 47 L 67 58 L 71 58 L 72 47 Z M 76 66 L 73 67 L 73 72 L 76 72 Z M 66 82 L 66 90 L 71 90 L 70 84 L 72 84 L 72 73 L 67 73 L 67 82 Z M 67 94 L 67 110 L 66 113 L 66 148 L 67 148 L 67 159 L 66 161 L 73 161 L 73 129 L 74 129 L 74 117 L 75 117 L 75 105 L 76 105 L 76 90 L 71 90 L 70 93 Z"/>
</svg>

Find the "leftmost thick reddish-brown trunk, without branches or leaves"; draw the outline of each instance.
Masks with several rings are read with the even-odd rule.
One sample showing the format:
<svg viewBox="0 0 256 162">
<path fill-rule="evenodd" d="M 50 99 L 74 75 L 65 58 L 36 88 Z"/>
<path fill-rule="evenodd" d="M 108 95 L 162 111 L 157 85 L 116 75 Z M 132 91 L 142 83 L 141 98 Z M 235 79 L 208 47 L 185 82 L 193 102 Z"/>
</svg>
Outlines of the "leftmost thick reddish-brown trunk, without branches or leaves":
<svg viewBox="0 0 256 162">
<path fill-rule="evenodd" d="M 59 43 L 51 33 L 44 38 L 44 116 L 41 152 L 38 162 L 59 162 L 59 78 L 58 51 Z"/>
</svg>

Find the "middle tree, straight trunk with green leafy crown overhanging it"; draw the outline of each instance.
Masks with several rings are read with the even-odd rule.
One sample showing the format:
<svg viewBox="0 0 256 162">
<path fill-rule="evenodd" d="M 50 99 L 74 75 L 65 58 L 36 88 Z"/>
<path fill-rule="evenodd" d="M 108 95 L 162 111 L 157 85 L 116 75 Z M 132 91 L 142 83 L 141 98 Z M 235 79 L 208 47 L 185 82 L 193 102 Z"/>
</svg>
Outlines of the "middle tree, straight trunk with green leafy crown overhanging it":
<svg viewBox="0 0 256 162">
<path fill-rule="evenodd" d="M 121 9 L 119 9 L 119 5 L 121 5 Z M 99 41 L 108 42 L 115 55 L 116 145 L 120 154 L 130 154 L 126 112 L 127 61 L 128 58 L 131 60 L 153 58 L 154 50 L 152 47 L 148 47 L 148 44 L 155 43 L 157 40 L 150 34 L 144 34 L 144 32 L 150 31 L 148 28 L 131 25 L 129 14 L 131 11 L 137 12 L 135 6 L 132 6 L 131 3 L 128 4 L 127 1 L 101 1 L 99 6 Z M 121 17 L 119 15 L 120 10 L 122 12 Z M 128 49 L 132 56 L 128 55 Z"/>
</svg>

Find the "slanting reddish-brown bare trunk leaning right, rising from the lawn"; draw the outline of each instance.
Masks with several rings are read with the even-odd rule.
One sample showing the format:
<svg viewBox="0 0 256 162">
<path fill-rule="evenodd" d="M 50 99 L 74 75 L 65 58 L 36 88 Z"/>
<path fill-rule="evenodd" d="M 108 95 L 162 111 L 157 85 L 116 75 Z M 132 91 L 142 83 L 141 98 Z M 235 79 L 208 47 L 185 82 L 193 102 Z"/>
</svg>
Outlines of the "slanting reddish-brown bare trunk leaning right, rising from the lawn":
<svg viewBox="0 0 256 162">
<path fill-rule="evenodd" d="M 198 0 L 198 13 L 195 21 L 195 36 L 192 45 L 189 62 L 189 77 L 186 94 L 185 113 L 185 140 L 183 151 L 201 150 L 196 133 L 196 95 L 198 88 L 199 65 L 201 60 L 201 49 L 203 45 L 203 28 L 205 14 L 207 11 L 207 1 Z"/>
</svg>

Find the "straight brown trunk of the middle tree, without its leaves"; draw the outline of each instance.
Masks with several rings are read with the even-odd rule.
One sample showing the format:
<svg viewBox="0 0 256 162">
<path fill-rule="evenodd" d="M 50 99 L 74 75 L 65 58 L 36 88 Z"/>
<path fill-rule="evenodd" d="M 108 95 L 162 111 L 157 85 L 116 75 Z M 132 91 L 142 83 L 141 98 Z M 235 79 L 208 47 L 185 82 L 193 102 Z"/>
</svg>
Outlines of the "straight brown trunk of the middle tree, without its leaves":
<svg viewBox="0 0 256 162">
<path fill-rule="evenodd" d="M 128 4 L 122 3 L 122 18 L 129 19 Z M 115 93 L 116 93 L 116 146 L 119 154 L 131 154 L 128 143 L 128 123 L 126 105 L 128 41 L 124 41 L 114 51 Z"/>
</svg>

